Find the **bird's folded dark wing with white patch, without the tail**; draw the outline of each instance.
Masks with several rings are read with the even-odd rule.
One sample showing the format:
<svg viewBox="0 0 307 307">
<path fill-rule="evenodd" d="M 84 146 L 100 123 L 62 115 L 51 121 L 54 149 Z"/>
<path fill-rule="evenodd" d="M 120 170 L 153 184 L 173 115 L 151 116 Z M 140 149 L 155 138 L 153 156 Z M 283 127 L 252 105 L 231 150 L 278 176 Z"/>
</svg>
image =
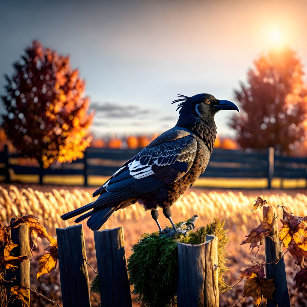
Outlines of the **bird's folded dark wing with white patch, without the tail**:
<svg viewBox="0 0 307 307">
<path fill-rule="evenodd" d="M 186 131 L 182 132 L 173 133 L 171 140 L 169 134 L 161 134 L 127 161 L 93 196 L 116 192 L 114 200 L 119 200 L 177 181 L 191 168 L 197 150 L 196 139 Z"/>
</svg>

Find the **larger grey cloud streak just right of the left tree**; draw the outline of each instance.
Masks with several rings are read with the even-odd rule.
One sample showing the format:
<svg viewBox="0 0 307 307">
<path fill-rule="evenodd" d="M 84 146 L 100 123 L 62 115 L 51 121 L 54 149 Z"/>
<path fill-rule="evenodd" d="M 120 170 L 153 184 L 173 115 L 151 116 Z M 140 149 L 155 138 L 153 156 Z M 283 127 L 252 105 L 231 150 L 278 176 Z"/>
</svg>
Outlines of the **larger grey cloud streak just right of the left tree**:
<svg viewBox="0 0 307 307">
<path fill-rule="evenodd" d="M 98 118 L 136 118 L 141 115 L 147 115 L 152 112 L 149 109 L 142 109 L 136 105 L 123 106 L 118 103 L 93 102 L 90 108 L 96 110 L 95 117 Z"/>
</svg>

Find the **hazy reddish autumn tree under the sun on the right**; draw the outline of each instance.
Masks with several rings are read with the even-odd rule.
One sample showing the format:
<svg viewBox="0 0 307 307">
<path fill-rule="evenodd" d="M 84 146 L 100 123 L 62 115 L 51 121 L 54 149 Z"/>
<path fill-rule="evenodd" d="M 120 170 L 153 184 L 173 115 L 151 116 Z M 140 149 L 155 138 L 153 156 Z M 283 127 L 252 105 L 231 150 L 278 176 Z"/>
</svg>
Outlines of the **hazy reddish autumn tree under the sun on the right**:
<svg viewBox="0 0 307 307">
<path fill-rule="evenodd" d="M 243 148 L 274 147 L 289 153 L 306 132 L 307 91 L 295 52 L 270 51 L 254 61 L 247 85 L 235 91 L 243 111 L 230 123 Z"/>
</svg>

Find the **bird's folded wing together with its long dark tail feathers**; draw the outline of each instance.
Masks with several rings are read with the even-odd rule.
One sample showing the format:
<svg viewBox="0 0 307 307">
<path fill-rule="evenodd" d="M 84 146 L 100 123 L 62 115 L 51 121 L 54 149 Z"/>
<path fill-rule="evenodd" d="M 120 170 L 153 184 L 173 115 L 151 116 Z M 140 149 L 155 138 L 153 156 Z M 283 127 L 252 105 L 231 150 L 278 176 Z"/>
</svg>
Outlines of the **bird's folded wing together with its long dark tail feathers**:
<svg viewBox="0 0 307 307">
<path fill-rule="evenodd" d="M 166 131 L 127 161 L 93 196 L 98 199 L 61 216 L 67 220 L 90 209 L 76 221 L 91 216 L 87 225 L 97 230 L 122 200 L 137 197 L 169 185 L 191 168 L 196 156 L 197 141 L 187 131 Z"/>
</svg>

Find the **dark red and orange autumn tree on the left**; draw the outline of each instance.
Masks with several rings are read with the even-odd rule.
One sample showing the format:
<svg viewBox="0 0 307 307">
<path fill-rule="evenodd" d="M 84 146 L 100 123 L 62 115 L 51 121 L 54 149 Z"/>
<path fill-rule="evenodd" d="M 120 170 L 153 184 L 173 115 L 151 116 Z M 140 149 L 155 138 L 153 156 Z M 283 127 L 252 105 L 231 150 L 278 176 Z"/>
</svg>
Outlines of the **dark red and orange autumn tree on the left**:
<svg viewBox="0 0 307 307">
<path fill-rule="evenodd" d="M 6 76 L 2 100 L 7 109 L 3 128 L 17 152 L 45 168 L 82 158 L 93 114 L 87 114 L 85 82 L 69 56 L 33 41 L 14 68 L 14 75 Z"/>
</svg>

